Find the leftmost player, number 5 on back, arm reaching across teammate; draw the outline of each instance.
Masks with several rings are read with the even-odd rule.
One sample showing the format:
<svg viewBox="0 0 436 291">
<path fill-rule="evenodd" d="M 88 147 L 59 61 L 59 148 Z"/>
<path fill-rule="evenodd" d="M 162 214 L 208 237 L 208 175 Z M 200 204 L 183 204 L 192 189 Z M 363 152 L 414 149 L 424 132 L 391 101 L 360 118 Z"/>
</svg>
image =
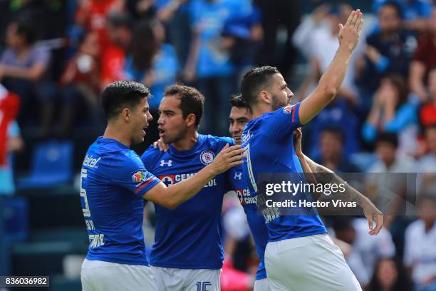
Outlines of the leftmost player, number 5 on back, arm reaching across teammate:
<svg viewBox="0 0 436 291">
<path fill-rule="evenodd" d="M 130 150 L 133 143 L 144 141 L 152 119 L 149 96 L 145 86 L 130 81 L 111 83 L 102 94 L 108 126 L 88 149 L 81 170 L 81 203 L 90 239 L 81 271 L 85 291 L 155 290 L 142 233 L 145 201 L 176 208 L 242 163 L 239 146 L 220 143 L 224 149 L 213 160 L 204 155 L 207 165 L 196 175 L 167 188 Z"/>
</svg>

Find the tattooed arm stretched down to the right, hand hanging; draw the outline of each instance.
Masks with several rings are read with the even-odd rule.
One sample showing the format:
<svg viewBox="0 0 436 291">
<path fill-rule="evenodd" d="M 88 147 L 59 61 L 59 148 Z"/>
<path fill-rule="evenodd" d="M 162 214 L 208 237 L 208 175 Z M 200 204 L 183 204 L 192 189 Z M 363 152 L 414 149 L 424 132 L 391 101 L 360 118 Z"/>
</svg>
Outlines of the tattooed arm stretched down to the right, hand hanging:
<svg viewBox="0 0 436 291">
<path fill-rule="evenodd" d="M 380 233 L 380 230 L 383 227 L 383 213 L 378 210 L 375 205 L 368 198 L 365 197 L 365 195 L 360 193 L 358 190 L 355 190 L 355 188 L 351 187 L 351 185 L 346 183 L 332 170 L 324 167 L 323 165 L 315 163 L 306 155 L 305 159 L 308 165 L 311 167 L 312 172 L 318 173 L 318 183 L 335 183 L 337 185 L 345 185 L 345 191 L 343 193 L 338 191 L 336 193 L 332 193 L 332 195 L 335 195 L 336 198 L 341 198 L 341 200 L 344 201 L 356 202 L 363 209 L 363 213 L 368 219 L 368 225 L 370 228 L 369 234 L 377 235 L 378 233 Z M 323 173 L 325 173 L 326 175 L 319 175 Z M 375 220 L 375 227 L 373 226 L 373 220 Z"/>
</svg>

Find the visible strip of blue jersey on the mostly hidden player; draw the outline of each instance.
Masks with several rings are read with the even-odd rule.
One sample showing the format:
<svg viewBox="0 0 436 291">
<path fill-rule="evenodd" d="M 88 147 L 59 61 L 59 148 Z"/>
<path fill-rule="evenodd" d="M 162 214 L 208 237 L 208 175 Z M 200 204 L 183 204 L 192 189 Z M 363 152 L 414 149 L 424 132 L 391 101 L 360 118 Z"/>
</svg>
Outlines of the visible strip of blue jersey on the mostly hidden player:
<svg viewBox="0 0 436 291">
<path fill-rule="evenodd" d="M 257 211 L 256 196 L 252 197 L 250 195 L 246 181 L 242 178 L 242 165 L 230 169 L 229 175 L 232 188 L 237 193 L 242 208 L 244 208 L 246 220 L 256 244 L 256 252 L 259 255 L 260 262 L 256 273 L 256 280 L 262 280 L 266 278 L 264 255 L 266 243 L 268 242 L 268 229 L 266 228 L 264 217 Z"/>
</svg>

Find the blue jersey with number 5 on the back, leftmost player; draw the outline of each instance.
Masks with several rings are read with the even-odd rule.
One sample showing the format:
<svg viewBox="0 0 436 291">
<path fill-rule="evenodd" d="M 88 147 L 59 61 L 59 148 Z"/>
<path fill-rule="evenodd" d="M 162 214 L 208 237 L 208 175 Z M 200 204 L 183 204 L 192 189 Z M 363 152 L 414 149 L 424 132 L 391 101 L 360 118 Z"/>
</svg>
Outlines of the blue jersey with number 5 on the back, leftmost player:
<svg viewBox="0 0 436 291">
<path fill-rule="evenodd" d="M 159 182 L 122 143 L 100 137 L 90 146 L 81 170 L 81 203 L 90 240 L 88 260 L 148 265 L 142 195 Z"/>
</svg>

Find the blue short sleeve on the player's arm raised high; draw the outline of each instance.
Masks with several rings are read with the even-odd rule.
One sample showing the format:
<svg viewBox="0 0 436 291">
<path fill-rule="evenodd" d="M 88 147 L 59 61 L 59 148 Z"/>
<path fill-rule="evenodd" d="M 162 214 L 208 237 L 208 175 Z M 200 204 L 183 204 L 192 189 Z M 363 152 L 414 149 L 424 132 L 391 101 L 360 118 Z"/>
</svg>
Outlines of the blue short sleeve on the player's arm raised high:
<svg viewBox="0 0 436 291">
<path fill-rule="evenodd" d="M 271 113 L 265 120 L 265 132 L 267 136 L 277 136 L 279 134 L 289 135 L 296 128 L 301 126 L 299 110 L 300 104 L 285 106 Z"/>
</svg>

